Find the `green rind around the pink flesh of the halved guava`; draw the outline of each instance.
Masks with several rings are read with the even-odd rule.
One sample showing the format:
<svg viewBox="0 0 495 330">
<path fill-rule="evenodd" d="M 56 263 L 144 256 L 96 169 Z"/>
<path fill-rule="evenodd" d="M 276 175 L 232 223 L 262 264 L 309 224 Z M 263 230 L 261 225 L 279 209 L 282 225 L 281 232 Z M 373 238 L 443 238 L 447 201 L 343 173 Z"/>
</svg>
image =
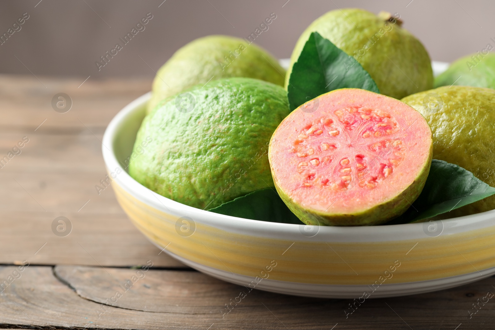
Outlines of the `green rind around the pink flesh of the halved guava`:
<svg viewBox="0 0 495 330">
<path fill-rule="evenodd" d="M 340 89 L 340 90 L 334 90 L 332 92 L 328 92 L 326 94 L 322 94 L 318 96 L 320 98 L 319 104 L 321 107 L 321 98 L 325 97 L 325 95 L 331 94 L 331 93 L 337 93 L 337 92 L 342 92 L 342 91 L 347 91 L 349 93 L 353 93 L 354 89 Z M 359 90 L 361 91 L 361 90 Z M 375 94 L 373 92 L 368 92 L 366 93 L 371 93 Z M 383 97 L 387 97 L 384 95 L 380 95 Z M 396 99 L 393 99 L 391 97 L 387 97 L 393 102 L 399 102 Z M 405 105 L 405 104 L 404 104 Z M 291 116 L 296 113 L 296 111 L 301 110 L 304 105 L 301 105 L 299 108 L 294 110 L 291 113 Z M 391 106 L 394 106 L 393 103 Z M 414 109 L 410 108 L 410 111 L 414 111 Z M 418 114 L 419 115 L 419 114 Z M 289 117 L 288 117 L 289 118 Z M 420 120 L 424 121 L 424 118 L 420 116 L 418 118 Z M 288 119 L 286 118 L 285 121 Z M 284 122 L 285 122 L 284 121 Z M 413 122 L 414 124 L 414 122 Z M 411 126 L 413 125 L 411 124 Z M 290 124 L 289 124 L 290 125 Z M 426 122 L 424 123 L 424 127 L 427 128 Z M 274 153 L 274 139 L 276 138 L 276 134 L 278 130 L 284 131 L 287 128 L 284 123 L 281 123 L 279 127 L 277 128 L 276 132 L 274 132 L 272 139 L 270 140 L 270 146 L 269 146 L 269 151 L 268 151 L 268 158 L 270 159 L 270 166 L 272 169 L 272 176 L 273 176 L 273 181 L 275 184 L 275 188 L 277 189 L 277 192 L 279 193 L 280 197 L 282 200 L 286 203 L 288 208 L 304 223 L 307 225 L 320 225 L 320 226 L 371 226 L 371 225 L 380 225 L 383 223 L 386 223 L 395 217 L 401 215 L 404 213 L 410 206 L 411 204 L 416 200 L 416 198 L 420 195 L 421 191 L 423 190 L 426 180 L 428 178 L 428 174 L 430 172 L 430 167 L 431 167 L 431 162 L 432 162 L 432 154 L 433 154 L 433 143 L 432 143 L 432 133 L 428 129 L 428 136 L 425 136 L 425 139 L 429 139 L 429 150 L 428 150 L 428 156 L 426 157 L 424 163 L 421 163 L 421 168 L 417 171 L 415 179 L 411 182 L 407 188 L 403 189 L 402 191 L 397 191 L 397 194 L 388 199 L 388 200 L 383 200 L 383 202 L 376 204 L 375 206 L 362 210 L 362 211 L 356 211 L 356 212 L 348 212 L 348 213 L 327 213 L 327 212 L 320 212 L 314 209 L 308 209 L 302 206 L 300 203 L 295 201 L 291 196 L 289 196 L 286 191 L 281 187 L 281 183 L 279 179 L 276 176 L 276 171 L 274 169 L 274 164 L 273 164 L 273 153 Z M 290 130 L 290 129 L 289 129 Z M 289 131 L 287 130 L 287 131 Z M 286 132 L 287 132 L 286 131 Z M 356 152 L 358 152 L 356 150 Z"/>
</svg>

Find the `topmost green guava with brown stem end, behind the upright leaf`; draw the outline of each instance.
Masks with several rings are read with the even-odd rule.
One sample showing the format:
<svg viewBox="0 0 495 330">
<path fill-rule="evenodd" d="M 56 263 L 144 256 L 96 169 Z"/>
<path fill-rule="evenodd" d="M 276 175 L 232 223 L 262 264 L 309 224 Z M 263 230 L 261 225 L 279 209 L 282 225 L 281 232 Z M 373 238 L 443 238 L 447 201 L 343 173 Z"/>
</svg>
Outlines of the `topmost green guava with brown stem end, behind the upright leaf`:
<svg viewBox="0 0 495 330">
<path fill-rule="evenodd" d="M 286 88 L 292 66 L 309 35 L 315 31 L 354 56 L 376 82 L 381 94 L 400 99 L 433 88 L 433 71 L 426 49 L 398 23 L 389 22 L 388 27 L 385 23 L 373 13 L 353 8 L 332 10 L 320 16 L 297 41 L 287 70 Z M 379 38 L 374 38 L 377 33 Z M 368 50 L 359 56 L 365 45 Z"/>
</svg>

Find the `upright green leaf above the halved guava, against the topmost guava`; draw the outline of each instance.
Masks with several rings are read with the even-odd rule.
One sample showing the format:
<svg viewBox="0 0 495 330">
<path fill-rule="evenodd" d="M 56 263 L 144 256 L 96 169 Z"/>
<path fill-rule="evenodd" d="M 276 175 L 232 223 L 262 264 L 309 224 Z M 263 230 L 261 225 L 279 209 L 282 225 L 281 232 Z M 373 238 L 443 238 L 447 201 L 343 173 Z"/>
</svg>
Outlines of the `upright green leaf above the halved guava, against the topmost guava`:
<svg viewBox="0 0 495 330">
<path fill-rule="evenodd" d="M 380 93 L 375 81 L 354 57 L 313 32 L 294 63 L 287 88 L 291 111 L 299 105 L 340 88 Z"/>
</svg>

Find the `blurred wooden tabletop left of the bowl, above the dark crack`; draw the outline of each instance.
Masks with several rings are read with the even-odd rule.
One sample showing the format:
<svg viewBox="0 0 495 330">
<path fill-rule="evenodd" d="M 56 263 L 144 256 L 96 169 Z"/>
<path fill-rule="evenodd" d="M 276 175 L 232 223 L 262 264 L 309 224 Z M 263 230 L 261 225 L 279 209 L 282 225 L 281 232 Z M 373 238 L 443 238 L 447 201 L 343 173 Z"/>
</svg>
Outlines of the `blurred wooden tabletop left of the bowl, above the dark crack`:
<svg viewBox="0 0 495 330">
<path fill-rule="evenodd" d="M 158 255 L 111 188 L 99 194 L 95 189 L 106 174 L 100 142 L 106 125 L 146 93 L 150 82 L 88 80 L 78 89 L 82 80 L 42 81 L 47 88 L 34 77 L 0 75 L 0 158 L 23 137 L 29 139 L 0 169 L 0 263 L 133 266 L 153 260 L 157 267 L 184 268 L 165 253 Z M 51 108 L 59 92 L 73 99 L 67 113 Z M 71 221 L 68 236 L 52 233 L 58 216 Z"/>
</svg>

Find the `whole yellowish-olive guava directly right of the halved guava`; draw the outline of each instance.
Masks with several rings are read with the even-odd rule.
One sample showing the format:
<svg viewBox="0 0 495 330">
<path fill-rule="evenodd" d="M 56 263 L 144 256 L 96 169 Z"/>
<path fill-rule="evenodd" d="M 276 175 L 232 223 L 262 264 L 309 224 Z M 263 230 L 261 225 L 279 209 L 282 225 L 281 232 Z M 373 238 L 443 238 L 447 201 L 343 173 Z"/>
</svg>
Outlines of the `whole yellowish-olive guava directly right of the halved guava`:
<svg viewBox="0 0 495 330">
<path fill-rule="evenodd" d="M 436 113 L 425 110 L 429 93 L 444 102 Z M 452 86 L 409 95 L 403 102 L 423 114 L 433 132 L 433 158 L 457 164 L 495 187 L 495 91 L 488 88 Z M 453 210 L 460 217 L 495 209 L 495 196 Z"/>
</svg>

